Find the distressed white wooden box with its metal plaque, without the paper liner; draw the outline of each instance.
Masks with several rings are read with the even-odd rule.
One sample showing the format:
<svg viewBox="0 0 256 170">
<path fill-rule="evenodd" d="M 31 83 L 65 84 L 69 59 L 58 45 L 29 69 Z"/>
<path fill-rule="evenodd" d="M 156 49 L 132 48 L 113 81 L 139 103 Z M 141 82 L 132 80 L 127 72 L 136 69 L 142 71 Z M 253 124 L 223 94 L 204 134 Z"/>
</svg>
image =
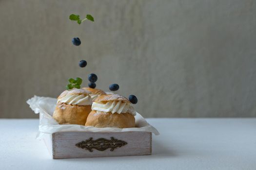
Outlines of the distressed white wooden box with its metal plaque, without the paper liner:
<svg viewBox="0 0 256 170">
<path fill-rule="evenodd" d="M 53 159 L 152 154 L 151 132 L 57 132 L 44 141 Z"/>
</svg>

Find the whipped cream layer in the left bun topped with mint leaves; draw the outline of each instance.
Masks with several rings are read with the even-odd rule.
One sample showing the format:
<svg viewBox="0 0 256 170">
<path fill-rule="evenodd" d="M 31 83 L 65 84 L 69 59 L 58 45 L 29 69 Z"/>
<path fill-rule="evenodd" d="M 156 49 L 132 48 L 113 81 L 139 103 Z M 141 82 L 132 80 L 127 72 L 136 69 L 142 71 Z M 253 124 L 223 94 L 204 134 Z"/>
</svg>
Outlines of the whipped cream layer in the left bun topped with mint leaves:
<svg viewBox="0 0 256 170">
<path fill-rule="evenodd" d="M 63 98 L 60 98 L 58 102 L 73 104 L 73 105 L 91 105 L 92 98 L 85 94 L 67 94 Z"/>
</svg>

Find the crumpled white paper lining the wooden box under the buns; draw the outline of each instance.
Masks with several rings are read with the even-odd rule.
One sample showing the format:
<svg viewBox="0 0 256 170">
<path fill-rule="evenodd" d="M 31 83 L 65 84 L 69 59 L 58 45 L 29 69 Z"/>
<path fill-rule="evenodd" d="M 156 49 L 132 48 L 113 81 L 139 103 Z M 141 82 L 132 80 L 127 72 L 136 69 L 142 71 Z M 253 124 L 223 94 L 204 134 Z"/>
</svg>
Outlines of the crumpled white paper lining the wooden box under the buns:
<svg viewBox="0 0 256 170">
<path fill-rule="evenodd" d="M 56 107 L 57 99 L 50 97 L 34 96 L 27 101 L 30 108 L 39 113 L 39 132 L 37 138 L 43 138 L 45 134 L 66 131 L 83 131 L 83 132 L 130 132 L 143 131 L 152 132 L 159 135 L 158 130 L 151 126 L 140 114 L 135 116 L 136 128 L 96 128 L 93 126 L 82 126 L 77 124 L 59 124 L 52 115 Z"/>
</svg>

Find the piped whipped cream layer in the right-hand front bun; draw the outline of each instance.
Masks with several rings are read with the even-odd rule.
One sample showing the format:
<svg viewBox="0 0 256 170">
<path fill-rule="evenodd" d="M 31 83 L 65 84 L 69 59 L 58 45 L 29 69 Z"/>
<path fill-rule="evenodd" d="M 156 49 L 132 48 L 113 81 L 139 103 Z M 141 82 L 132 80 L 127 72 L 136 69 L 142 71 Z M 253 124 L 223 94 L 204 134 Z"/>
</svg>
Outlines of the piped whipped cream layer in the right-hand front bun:
<svg viewBox="0 0 256 170">
<path fill-rule="evenodd" d="M 101 112 L 111 112 L 114 113 L 130 113 L 136 115 L 136 111 L 128 102 L 122 101 L 109 101 L 107 103 L 102 102 L 93 102 L 92 110 L 101 111 Z"/>
</svg>

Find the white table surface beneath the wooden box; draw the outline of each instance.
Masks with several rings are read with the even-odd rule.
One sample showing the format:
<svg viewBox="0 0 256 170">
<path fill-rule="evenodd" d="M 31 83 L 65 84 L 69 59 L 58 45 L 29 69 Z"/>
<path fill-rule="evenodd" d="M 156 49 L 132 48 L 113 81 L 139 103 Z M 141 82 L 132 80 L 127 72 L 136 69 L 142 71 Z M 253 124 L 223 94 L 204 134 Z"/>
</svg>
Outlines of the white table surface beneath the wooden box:
<svg viewBox="0 0 256 170">
<path fill-rule="evenodd" d="M 38 119 L 0 119 L 0 170 L 256 170 L 256 119 L 147 119 L 153 153 L 51 159 Z"/>
</svg>

